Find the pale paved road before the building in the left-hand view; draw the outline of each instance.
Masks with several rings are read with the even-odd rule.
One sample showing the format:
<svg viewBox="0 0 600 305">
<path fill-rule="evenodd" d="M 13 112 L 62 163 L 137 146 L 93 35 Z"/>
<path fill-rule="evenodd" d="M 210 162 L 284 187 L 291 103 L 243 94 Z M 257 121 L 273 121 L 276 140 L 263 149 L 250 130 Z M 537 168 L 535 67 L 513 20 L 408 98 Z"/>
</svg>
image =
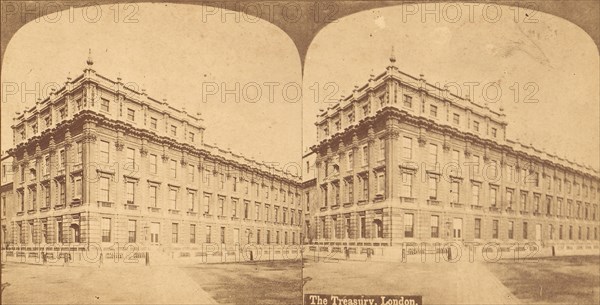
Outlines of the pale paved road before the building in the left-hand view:
<svg viewBox="0 0 600 305">
<path fill-rule="evenodd" d="M 2 286 L 3 304 L 217 304 L 185 272 L 168 266 L 8 263 Z"/>
</svg>

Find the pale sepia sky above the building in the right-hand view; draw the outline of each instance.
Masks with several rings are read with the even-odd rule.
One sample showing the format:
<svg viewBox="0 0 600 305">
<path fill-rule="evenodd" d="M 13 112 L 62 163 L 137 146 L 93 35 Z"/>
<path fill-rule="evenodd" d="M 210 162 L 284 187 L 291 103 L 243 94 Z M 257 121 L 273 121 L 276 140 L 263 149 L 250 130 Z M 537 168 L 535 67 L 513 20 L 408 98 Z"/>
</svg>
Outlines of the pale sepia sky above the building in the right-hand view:
<svg viewBox="0 0 600 305">
<path fill-rule="evenodd" d="M 599 168 L 599 57 L 592 39 L 569 21 L 540 12 L 527 17 L 521 15 L 527 12 L 497 6 L 500 17 L 495 17 L 493 9 L 484 13 L 478 6 L 469 13 L 461 7 L 459 18 L 453 13 L 458 10 L 439 7 L 437 21 L 435 14 L 410 15 L 407 7 L 395 6 L 328 25 L 308 50 L 305 91 L 332 82 L 337 92 L 330 101 L 349 95 L 369 74 L 385 71 L 394 46 L 396 65 L 409 75 L 459 84 L 463 96 L 476 82 L 475 102 L 485 102 L 485 84 L 497 83 L 501 95 L 496 98 L 488 86 L 486 98 L 492 109 L 503 105 L 509 139 Z M 305 99 L 305 143 L 314 141 L 318 109 L 332 105 L 324 102 L 325 95 L 318 103 Z"/>
</svg>

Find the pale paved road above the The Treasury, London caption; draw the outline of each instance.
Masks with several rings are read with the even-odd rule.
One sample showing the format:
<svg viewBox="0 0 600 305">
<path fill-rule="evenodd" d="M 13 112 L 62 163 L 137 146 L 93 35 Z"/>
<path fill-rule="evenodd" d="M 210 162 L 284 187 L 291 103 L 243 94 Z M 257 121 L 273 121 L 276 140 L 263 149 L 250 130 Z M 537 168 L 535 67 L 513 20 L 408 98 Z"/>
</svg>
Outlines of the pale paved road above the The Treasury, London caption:
<svg viewBox="0 0 600 305">
<path fill-rule="evenodd" d="M 518 304 L 483 263 L 307 262 L 304 293 L 422 295 L 423 304 Z"/>
</svg>

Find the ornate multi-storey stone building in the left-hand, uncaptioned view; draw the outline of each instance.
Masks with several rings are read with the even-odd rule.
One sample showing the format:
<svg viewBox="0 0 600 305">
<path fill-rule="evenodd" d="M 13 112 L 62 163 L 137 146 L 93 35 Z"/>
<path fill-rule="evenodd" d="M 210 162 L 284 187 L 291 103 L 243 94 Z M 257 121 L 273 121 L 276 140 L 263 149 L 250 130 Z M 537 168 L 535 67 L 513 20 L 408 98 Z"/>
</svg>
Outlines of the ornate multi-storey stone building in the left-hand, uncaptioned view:
<svg viewBox="0 0 600 305">
<path fill-rule="evenodd" d="M 91 58 L 82 75 L 17 113 L 13 133 L 5 243 L 180 249 L 303 239 L 299 177 L 204 143 L 199 114 L 96 73 Z"/>
</svg>

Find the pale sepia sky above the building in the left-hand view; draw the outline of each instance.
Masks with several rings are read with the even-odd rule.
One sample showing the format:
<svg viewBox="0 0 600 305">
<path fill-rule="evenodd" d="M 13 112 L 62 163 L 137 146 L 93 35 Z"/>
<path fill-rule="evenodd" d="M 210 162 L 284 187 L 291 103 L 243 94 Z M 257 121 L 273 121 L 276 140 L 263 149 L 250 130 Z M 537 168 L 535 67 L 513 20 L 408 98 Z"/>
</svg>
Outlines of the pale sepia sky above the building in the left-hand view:
<svg viewBox="0 0 600 305">
<path fill-rule="evenodd" d="M 120 75 L 151 97 L 166 98 L 188 113 L 201 112 L 206 143 L 275 165 L 299 162 L 301 101 L 293 98 L 293 89 L 300 90 L 301 68 L 291 39 L 266 21 L 223 23 L 218 15 L 207 18 L 202 9 L 139 4 L 127 19 L 133 10 L 121 7 L 115 22 L 114 8 L 102 6 L 96 23 L 85 22 L 80 9 L 74 22 L 67 14 L 56 23 L 30 22 L 7 47 L 2 83 L 27 90 L 39 83 L 44 98 L 47 84 L 63 84 L 69 74 L 82 73 L 91 49 L 98 74 L 113 80 Z M 287 83 L 295 85 L 289 86 L 291 98 L 284 99 L 281 88 Z M 236 86 L 237 97 L 222 98 L 221 92 L 236 92 Z M 2 117 L 12 118 L 34 102 L 33 95 L 5 94 Z M 3 150 L 12 145 L 11 124 L 2 120 Z"/>
</svg>

